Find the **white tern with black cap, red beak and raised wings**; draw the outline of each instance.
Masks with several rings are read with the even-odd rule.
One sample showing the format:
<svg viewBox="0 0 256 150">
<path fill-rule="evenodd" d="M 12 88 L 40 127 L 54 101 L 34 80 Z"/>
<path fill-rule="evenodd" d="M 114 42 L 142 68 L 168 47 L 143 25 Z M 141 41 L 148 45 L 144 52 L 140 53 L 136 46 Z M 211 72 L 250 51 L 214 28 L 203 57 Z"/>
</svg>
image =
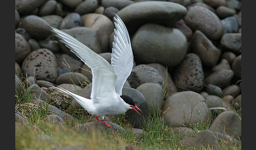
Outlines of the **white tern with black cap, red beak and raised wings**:
<svg viewBox="0 0 256 150">
<path fill-rule="evenodd" d="M 97 121 L 103 121 L 109 127 L 111 125 L 104 121 L 105 116 L 123 114 L 130 109 L 139 113 L 137 110 L 140 110 L 131 97 L 122 95 L 124 82 L 133 68 L 133 53 L 130 37 L 122 19 L 116 15 L 114 20 L 116 29 L 114 29 L 111 65 L 74 37 L 49 27 L 66 47 L 70 48 L 78 58 L 92 69 L 93 76 L 91 99 L 83 98 L 61 87 L 54 88 L 71 95 L 88 113 L 95 115 Z"/>
</svg>

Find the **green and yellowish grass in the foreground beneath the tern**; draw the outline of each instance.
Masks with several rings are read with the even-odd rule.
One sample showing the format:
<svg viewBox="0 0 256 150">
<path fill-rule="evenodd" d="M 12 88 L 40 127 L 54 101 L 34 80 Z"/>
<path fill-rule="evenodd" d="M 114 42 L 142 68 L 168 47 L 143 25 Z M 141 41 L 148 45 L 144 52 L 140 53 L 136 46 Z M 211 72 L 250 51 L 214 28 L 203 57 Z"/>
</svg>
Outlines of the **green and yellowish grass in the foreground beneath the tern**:
<svg viewBox="0 0 256 150">
<path fill-rule="evenodd" d="M 66 123 L 64 126 L 55 125 L 44 121 L 44 116 L 52 114 L 47 108 L 37 106 L 31 101 L 29 92 L 23 89 L 20 97 L 16 96 L 16 110 L 28 121 L 27 124 L 15 123 L 15 149 L 60 149 L 62 147 L 75 147 L 77 149 L 125 149 L 125 146 L 133 144 L 137 149 L 195 149 L 178 145 L 182 139 L 181 134 L 174 134 L 174 127 L 166 124 L 163 115 L 159 112 L 151 112 L 149 121 L 145 123 L 143 130 L 146 134 L 142 137 L 134 135 L 132 126 L 124 120 L 123 115 L 111 116 L 113 123 L 122 126 L 126 134 L 109 134 L 108 132 L 76 132 L 71 127 L 77 124 L 90 122 L 90 116 L 78 111 L 73 116 L 76 121 Z M 198 123 L 188 126 L 193 129 L 193 135 L 199 131 L 207 130 L 210 123 Z M 220 145 L 227 149 L 241 149 L 224 141 Z M 73 149 L 72 148 L 72 149 Z M 201 149 L 211 149 L 202 146 Z"/>
</svg>

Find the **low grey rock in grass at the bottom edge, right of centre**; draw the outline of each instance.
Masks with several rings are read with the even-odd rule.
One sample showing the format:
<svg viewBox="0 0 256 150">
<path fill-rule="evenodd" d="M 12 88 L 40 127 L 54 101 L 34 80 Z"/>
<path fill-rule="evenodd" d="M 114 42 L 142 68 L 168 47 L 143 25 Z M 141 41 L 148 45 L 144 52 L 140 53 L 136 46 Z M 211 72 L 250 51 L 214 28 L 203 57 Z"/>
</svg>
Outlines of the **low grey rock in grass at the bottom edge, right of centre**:
<svg viewBox="0 0 256 150">
<path fill-rule="evenodd" d="M 198 134 L 185 138 L 178 143 L 196 149 L 202 148 L 201 145 L 212 149 L 219 149 L 221 147 L 217 137 L 209 130 L 200 131 Z"/>
</svg>

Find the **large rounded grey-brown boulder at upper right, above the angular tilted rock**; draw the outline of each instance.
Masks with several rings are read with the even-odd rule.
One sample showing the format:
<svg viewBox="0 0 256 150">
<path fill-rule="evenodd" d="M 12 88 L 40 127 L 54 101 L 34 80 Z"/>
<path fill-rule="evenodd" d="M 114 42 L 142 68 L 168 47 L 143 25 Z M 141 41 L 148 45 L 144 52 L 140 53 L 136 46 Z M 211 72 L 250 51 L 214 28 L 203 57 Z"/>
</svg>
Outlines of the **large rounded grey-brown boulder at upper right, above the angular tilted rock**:
<svg viewBox="0 0 256 150">
<path fill-rule="evenodd" d="M 210 40 L 218 40 L 223 35 L 223 26 L 219 17 L 211 10 L 201 7 L 190 7 L 184 22 L 193 31 L 200 30 Z"/>
</svg>

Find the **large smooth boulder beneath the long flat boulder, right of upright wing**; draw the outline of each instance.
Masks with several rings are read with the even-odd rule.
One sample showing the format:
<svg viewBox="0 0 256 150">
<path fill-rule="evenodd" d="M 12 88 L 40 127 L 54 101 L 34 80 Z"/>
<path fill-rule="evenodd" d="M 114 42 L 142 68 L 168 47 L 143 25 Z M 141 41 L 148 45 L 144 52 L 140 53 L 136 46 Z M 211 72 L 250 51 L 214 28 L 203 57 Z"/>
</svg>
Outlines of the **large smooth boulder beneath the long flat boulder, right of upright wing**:
<svg viewBox="0 0 256 150">
<path fill-rule="evenodd" d="M 137 64 L 160 63 L 170 68 L 184 59 L 188 48 L 188 41 L 179 29 L 157 24 L 141 26 L 131 43 Z"/>
</svg>

